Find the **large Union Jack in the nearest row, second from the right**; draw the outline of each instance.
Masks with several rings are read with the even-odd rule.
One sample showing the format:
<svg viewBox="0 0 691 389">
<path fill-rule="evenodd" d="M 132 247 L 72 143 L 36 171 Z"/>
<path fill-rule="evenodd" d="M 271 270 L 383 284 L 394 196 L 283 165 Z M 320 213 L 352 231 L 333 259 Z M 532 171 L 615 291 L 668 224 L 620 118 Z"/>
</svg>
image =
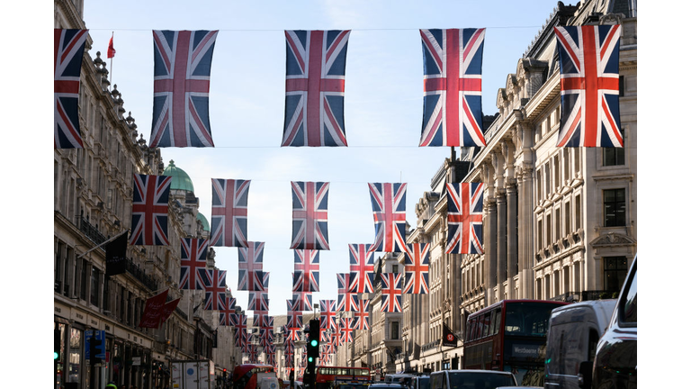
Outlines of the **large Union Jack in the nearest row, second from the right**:
<svg viewBox="0 0 691 389">
<path fill-rule="evenodd" d="M 420 146 L 485 146 L 482 48 L 485 29 L 420 30 L 425 64 Z"/>
</svg>

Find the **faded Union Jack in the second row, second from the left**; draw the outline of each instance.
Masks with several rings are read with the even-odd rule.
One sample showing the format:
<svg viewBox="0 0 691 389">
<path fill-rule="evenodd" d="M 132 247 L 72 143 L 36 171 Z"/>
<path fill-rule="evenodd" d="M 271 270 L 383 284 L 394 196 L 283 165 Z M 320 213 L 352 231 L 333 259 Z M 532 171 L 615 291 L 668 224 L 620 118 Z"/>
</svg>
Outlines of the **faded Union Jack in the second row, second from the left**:
<svg viewBox="0 0 691 389">
<path fill-rule="evenodd" d="M 249 183 L 211 178 L 211 246 L 247 247 Z"/>
</svg>

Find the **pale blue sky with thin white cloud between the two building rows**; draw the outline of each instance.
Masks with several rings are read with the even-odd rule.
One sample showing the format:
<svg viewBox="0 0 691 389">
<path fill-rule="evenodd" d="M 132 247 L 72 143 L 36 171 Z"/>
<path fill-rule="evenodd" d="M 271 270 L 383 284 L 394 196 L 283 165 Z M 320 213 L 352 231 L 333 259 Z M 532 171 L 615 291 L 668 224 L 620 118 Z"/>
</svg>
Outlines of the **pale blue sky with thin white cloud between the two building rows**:
<svg viewBox="0 0 691 389">
<path fill-rule="evenodd" d="M 336 273 L 348 270 L 347 245 L 372 243 L 367 183 L 408 183 L 407 219 L 449 157 L 450 148 L 418 148 L 422 122 L 420 28 L 487 28 L 483 113 L 497 112 L 498 89 L 552 13 L 556 1 L 186 1 L 85 2 L 84 19 L 102 52 L 114 33 L 112 84 L 149 140 L 153 103 L 151 30 L 220 30 L 211 65 L 210 120 L 215 148 L 162 149 L 192 178 L 211 221 L 211 178 L 250 179 L 248 239 L 265 241 L 270 311 L 285 312 L 293 253 L 290 181 L 327 181 L 331 250 L 320 253 L 320 299 L 336 299 Z M 346 62 L 348 148 L 280 148 L 285 96 L 283 30 L 352 30 Z M 106 59 L 107 60 L 107 59 Z M 110 68 L 110 61 L 109 68 Z M 238 292 L 238 253 L 215 248 Z"/>
</svg>

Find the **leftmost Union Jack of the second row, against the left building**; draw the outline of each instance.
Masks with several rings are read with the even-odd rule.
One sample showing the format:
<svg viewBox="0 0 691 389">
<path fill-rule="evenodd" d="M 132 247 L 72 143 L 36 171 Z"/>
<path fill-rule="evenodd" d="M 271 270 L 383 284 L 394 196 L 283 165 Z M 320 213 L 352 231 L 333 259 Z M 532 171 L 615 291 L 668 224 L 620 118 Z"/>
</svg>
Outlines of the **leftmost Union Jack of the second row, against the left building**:
<svg viewBox="0 0 691 389">
<path fill-rule="evenodd" d="M 130 246 L 168 246 L 171 176 L 134 175 Z"/>
</svg>

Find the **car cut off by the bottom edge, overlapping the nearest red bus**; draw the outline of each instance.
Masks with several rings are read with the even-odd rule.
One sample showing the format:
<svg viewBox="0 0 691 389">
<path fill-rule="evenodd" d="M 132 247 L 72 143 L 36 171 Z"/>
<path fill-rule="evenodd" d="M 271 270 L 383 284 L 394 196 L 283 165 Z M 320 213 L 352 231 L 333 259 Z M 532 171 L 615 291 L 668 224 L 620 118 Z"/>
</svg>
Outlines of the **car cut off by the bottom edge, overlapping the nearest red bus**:
<svg viewBox="0 0 691 389">
<path fill-rule="evenodd" d="M 430 389 L 496 389 L 517 384 L 513 374 L 495 370 L 442 370 L 429 375 Z"/>
</svg>

